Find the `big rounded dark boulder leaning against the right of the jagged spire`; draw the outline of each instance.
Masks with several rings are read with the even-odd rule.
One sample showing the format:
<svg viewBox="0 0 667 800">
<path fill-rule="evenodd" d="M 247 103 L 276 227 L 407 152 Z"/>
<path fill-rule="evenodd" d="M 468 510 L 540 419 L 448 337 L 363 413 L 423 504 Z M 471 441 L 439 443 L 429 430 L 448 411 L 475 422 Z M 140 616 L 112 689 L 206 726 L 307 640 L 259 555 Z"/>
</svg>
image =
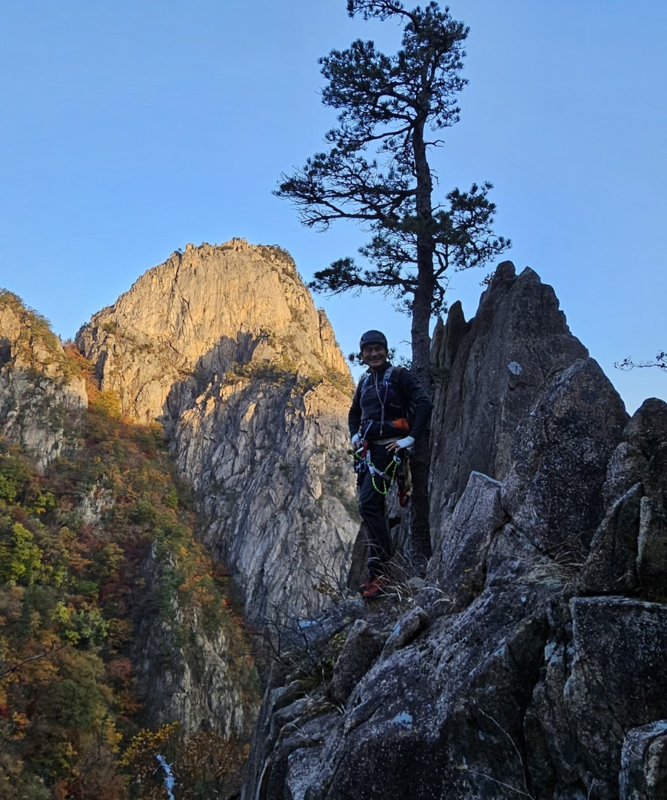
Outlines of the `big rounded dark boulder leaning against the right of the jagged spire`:
<svg viewBox="0 0 667 800">
<path fill-rule="evenodd" d="M 607 462 L 628 414 L 592 358 L 540 392 L 516 430 L 503 506 L 544 551 L 583 562 L 605 515 Z"/>
</svg>

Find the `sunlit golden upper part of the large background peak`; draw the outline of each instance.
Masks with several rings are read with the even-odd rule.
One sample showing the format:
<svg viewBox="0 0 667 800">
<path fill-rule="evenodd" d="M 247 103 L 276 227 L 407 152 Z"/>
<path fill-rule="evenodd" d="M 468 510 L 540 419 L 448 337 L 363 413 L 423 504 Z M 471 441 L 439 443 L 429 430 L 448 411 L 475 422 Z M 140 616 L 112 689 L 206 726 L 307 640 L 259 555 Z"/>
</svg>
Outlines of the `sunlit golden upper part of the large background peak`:
<svg viewBox="0 0 667 800">
<path fill-rule="evenodd" d="M 116 390 L 139 422 L 160 417 L 172 387 L 195 370 L 223 375 L 252 363 L 350 380 L 291 256 L 240 238 L 171 254 L 94 314 L 76 342 L 101 388 Z"/>
</svg>

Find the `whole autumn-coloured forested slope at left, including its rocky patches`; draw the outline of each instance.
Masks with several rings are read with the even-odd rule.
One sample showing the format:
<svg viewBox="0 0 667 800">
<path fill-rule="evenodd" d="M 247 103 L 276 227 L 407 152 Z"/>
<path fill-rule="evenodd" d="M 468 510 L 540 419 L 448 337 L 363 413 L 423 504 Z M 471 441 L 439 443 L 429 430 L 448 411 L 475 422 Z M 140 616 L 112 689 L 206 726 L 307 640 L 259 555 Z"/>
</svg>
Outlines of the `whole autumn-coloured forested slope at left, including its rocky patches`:
<svg viewBox="0 0 667 800">
<path fill-rule="evenodd" d="M 10 293 L 0 322 L 2 401 L 14 387 L 15 412 L 0 419 L 0 797 L 162 797 L 156 752 L 177 763 L 182 797 L 208 796 L 234 782 L 258 689 L 229 578 L 196 541 L 189 486 L 162 427 L 123 419 L 88 362 Z M 81 378 L 87 410 L 58 405 Z M 9 426 L 26 402 L 27 422 Z M 53 433 L 54 408 L 49 460 L 23 434 Z M 205 697 L 183 704 L 193 675 Z"/>
</svg>

